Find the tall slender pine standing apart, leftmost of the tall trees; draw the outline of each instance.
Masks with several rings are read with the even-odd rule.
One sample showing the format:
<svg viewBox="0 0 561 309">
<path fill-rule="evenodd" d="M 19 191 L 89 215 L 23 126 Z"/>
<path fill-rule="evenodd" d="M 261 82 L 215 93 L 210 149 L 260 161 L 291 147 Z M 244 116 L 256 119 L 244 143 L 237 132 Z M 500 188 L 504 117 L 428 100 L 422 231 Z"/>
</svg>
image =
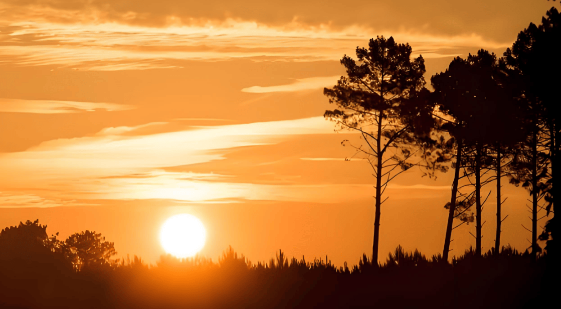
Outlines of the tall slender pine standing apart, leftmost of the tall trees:
<svg viewBox="0 0 561 309">
<path fill-rule="evenodd" d="M 344 56 L 342 76 L 333 88 L 325 88 L 329 103 L 337 109 L 324 117 L 336 123 L 335 130 L 355 130 L 366 146 L 352 147 L 366 156 L 376 178 L 373 263 L 378 265 L 380 208 L 388 183 L 416 163 L 416 156 L 427 166 L 439 168 L 443 154 L 419 151 L 430 145 L 433 108 L 424 96 L 425 64 L 421 56 L 411 59 L 411 47 L 397 44 L 390 37 L 370 39 L 368 48 L 356 48 L 358 62 Z M 343 141 L 348 143 L 348 141 Z M 417 153 L 419 152 L 419 153 Z"/>
</svg>

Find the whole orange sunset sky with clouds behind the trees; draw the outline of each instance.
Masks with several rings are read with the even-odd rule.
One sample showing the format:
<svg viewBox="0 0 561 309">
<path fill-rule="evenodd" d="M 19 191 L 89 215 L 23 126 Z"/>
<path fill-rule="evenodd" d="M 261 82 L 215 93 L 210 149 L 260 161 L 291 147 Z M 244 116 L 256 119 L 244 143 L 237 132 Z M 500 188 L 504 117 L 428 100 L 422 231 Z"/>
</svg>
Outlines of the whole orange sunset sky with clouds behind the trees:
<svg viewBox="0 0 561 309">
<path fill-rule="evenodd" d="M 0 0 L 0 226 L 95 230 L 154 263 L 163 222 L 199 217 L 201 255 L 278 249 L 336 265 L 371 254 L 374 177 L 323 95 L 377 35 L 409 43 L 426 80 L 453 57 L 502 54 L 548 1 Z M 427 83 L 430 84 L 430 83 Z M 410 170 L 381 210 L 380 258 L 442 251 L 452 172 Z M 484 207 L 483 249 L 496 206 Z M 528 193 L 505 185 L 502 243 L 524 250 Z M 543 225 L 546 219 L 540 221 Z M 452 255 L 475 239 L 454 230 Z"/>
</svg>

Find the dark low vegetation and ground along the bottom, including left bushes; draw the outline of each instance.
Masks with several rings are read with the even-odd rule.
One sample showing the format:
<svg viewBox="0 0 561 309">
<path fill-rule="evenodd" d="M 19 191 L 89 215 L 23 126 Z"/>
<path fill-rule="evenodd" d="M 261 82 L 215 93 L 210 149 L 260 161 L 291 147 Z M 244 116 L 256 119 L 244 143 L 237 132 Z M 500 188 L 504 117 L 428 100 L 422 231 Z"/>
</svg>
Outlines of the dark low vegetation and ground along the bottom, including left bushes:
<svg viewBox="0 0 561 309">
<path fill-rule="evenodd" d="M 398 247 L 383 265 L 288 260 L 251 263 L 229 248 L 218 262 L 162 256 L 157 265 L 112 260 L 86 231 L 65 242 L 38 221 L 0 234 L 2 308 L 522 308 L 553 305 L 554 261 L 503 248 L 452 263 Z"/>
</svg>

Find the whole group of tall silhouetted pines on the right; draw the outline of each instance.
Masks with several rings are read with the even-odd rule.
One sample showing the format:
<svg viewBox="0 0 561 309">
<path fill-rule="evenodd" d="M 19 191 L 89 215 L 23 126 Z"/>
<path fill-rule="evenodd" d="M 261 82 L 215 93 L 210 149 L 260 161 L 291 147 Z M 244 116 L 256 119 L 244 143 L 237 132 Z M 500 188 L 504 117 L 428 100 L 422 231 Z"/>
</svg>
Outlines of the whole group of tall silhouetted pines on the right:
<svg viewBox="0 0 561 309">
<path fill-rule="evenodd" d="M 375 177 L 372 257 L 378 261 L 381 206 L 387 185 L 403 171 L 420 167 L 435 176 L 450 167 L 454 177 L 442 258 L 448 261 L 452 230 L 475 221 L 475 255 L 481 256 L 481 211 L 488 200 L 481 188 L 495 183 L 496 233 L 499 254 L 505 181 L 525 188 L 531 197 L 530 258 L 555 253 L 555 219 L 545 228 L 537 222 L 554 214 L 554 166 L 559 157 L 558 90 L 561 84 L 561 16 L 552 7 L 540 25 L 531 23 L 502 56 L 480 49 L 456 57 L 447 70 L 431 76 L 426 88 L 422 56 L 393 37 L 371 39 L 357 47 L 356 60 L 341 60 L 347 75 L 325 88 L 337 106 L 324 117 L 335 130 L 357 131 L 364 144 L 344 145 L 366 159 Z M 475 209 L 474 209 L 475 208 Z M 454 226 L 454 220 L 459 224 Z M 471 233 L 471 232 L 470 232 Z"/>
</svg>

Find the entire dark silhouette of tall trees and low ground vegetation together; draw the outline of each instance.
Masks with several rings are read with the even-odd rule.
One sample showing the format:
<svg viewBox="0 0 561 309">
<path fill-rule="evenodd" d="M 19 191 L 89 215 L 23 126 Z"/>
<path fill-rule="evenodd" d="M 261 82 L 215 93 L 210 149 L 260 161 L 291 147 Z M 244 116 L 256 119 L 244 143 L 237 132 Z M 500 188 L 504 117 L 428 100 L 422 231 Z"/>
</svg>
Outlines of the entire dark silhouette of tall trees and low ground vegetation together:
<svg viewBox="0 0 561 309">
<path fill-rule="evenodd" d="M 155 265 L 114 258 L 114 244 L 95 231 L 48 236 L 39 220 L 0 233 L 0 305 L 5 308 L 361 308 L 555 306 L 559 253 L 554 166 L 559 157 L 561 15 L 552 7 L 502 56 L 480 49 L 456 57 L 426 88 L 421 56 L 392 37 L 357 47 L 341 60 L 347 76 L 324 94 L 343 141 L 366 160 L 375 179 L 373 251 L 357 265 L 329 258 L 251 262 L 230 247 L 214 262 L 164 255 Z M 398 246 L 379 257 L 380 216 L 388 184 L 413 167 L 428 177 L 453 172 L 442 253 L 430 258 Z M 505 183 L 530 197 L 530 246 L 501 243 Z M 495 245 L 485 251 L 482 210 L 494 185 Z M 517 205 L 516 207 L 523 207 Z M 549 220 L 541 228 L 538 221 Z M 450 257 L 453 230 L 475 222 L 475 243 Z M 524 224 L 525 222 L 521 222 Z M 444 232 L 444 231 L 443 231 Z M 540 246 L 544 246 L 542 248 Z M 500 249 L 499 249 L 500 248 Z M 558 306 L 558 305 L 557 305 Z"/>
</svg>

